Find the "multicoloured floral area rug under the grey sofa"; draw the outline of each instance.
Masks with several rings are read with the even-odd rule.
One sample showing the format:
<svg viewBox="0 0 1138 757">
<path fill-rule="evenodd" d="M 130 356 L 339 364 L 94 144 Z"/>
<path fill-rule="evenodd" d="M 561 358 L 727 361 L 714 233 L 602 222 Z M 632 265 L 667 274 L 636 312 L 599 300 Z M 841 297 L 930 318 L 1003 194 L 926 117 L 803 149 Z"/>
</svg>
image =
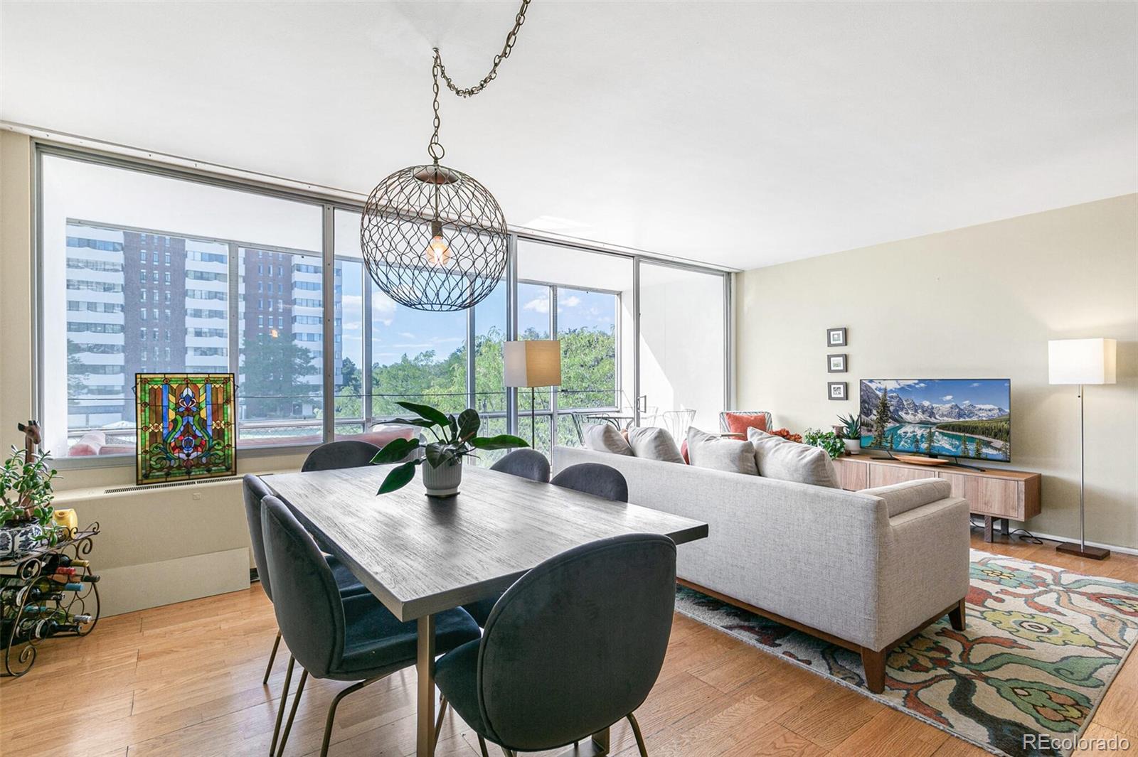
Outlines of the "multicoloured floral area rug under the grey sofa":
<svg viewBox="0 0 1138 757">
<path fill-rule="evenodd" d="M 1071 754 L 1138 641 L 1138 583 L 975 550 L 971 569 L 966 630 L 892 650 L 882 694 L 856 652 L 686 588 L 676 609 L 995 754 Z"/>
</svg>

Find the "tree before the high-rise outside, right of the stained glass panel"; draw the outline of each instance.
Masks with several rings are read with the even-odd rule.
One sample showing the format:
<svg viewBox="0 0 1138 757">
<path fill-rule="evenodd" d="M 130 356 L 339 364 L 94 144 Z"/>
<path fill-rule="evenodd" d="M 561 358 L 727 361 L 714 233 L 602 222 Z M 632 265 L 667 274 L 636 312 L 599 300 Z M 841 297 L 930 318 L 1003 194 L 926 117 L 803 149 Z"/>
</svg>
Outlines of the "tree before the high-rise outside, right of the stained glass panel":
<svg viewBox="0 0 1138 757">
<path fill-rule="evenodd" d="M 305 377 L 320 373 L 312 352 L 291 339 L 259 334 L 246 338 L 245 365 L 239 397 L 245 397 L 250 419 L 294 417 L 292 408 L 303 398 L 319 398 L 320 386 Z"/>
</svg>

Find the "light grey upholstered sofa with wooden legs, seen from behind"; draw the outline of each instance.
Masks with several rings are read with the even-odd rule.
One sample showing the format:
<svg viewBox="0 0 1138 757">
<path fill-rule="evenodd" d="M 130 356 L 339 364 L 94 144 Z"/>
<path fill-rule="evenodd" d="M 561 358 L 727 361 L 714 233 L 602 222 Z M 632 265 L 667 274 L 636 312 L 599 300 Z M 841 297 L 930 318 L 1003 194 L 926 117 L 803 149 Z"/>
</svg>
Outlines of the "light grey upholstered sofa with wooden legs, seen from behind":
<svg viewBox="0 0 1138 757">
<path fill-rule="evenodd" d="M 603 463 L 628 500 L 708 523 L 685 544 L 688 585 L 861 654 L 884 687 L 885 654 L 948 614 L 963 629 L 968 505 L 927 479 L 859 492 L 558 447 L 554 473 Z"/>
</svg>

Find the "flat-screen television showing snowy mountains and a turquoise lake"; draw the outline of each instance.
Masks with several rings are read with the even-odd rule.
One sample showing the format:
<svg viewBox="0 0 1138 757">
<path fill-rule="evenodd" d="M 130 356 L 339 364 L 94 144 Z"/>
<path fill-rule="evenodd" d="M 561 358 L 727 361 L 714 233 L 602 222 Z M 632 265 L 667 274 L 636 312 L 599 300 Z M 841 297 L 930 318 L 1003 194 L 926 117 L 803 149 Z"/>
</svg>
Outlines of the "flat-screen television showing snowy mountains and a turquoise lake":
<svg viewBox="0 0 1138 757">
<path fill-rule="evenodd" d="M 861 446 L 1007 463 L 1011 407 L 1007 378 L 863 378 Z"/>
</svg>

